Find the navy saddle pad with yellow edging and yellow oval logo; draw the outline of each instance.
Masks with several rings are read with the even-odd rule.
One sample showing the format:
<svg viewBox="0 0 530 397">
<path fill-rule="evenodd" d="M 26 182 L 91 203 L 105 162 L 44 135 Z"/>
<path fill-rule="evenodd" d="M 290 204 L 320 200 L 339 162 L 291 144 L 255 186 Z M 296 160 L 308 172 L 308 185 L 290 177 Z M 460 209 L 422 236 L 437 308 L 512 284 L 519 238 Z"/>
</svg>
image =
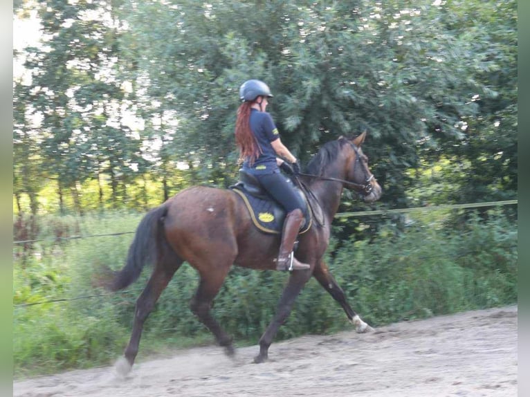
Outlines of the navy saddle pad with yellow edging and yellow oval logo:
<svg viewBox="0 0 530 397">
<path fill-rule="evenodd" d="M 243 199 L 256 228 L 265 233 L 280 234 L 282 232 L 286 212 L 281 205 L 275 201 L 252 196 L 240 186 L 236 185 L 230 188 Z M 299 234 L 307 232 L 311 228 L 311 219 L 311 212 L 305 211 L 305 225 Z"/>
</svg>

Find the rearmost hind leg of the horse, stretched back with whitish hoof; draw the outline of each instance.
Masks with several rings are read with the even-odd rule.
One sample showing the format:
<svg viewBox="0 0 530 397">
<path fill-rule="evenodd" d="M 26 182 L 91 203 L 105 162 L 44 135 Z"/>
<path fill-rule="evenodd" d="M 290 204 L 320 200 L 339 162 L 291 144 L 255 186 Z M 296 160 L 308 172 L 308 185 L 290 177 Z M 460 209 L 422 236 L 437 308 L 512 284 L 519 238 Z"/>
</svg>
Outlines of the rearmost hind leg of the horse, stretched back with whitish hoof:
<svg viewBox="0 0 530 397">
<path fill-rule="evenodd" d="M 156 264 L 147 286 L 136 300 L 136 310 L 134 312 L 134 322 L 131 331 L 131 339 L 125 348 L 125 360 L 120 360 L 116 364 L 116 370 L 120 375 L 125 376 L 134 364 L 134 359 L 138 354 L 138 346 L 142 335 L 143 324 L 152 312 L 158 297 L 172 279 L 176 270 L 181 266 L 182 261 L 176 261 L 173 264 Z"/>
</svg>

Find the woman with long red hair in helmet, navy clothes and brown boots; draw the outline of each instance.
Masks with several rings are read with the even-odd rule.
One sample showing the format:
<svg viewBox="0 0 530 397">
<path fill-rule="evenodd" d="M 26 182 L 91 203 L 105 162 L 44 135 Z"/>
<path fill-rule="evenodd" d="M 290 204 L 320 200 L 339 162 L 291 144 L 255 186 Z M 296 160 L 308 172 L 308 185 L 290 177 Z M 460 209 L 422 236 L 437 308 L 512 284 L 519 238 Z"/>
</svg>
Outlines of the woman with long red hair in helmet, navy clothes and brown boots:
<svg viewBox="0 0 530 397">
<path fill-rule="evenodd" d="M 241 85 L 239 97 L 243 103 L 237 110 L 235 140 L 243 162 L 243 170 L 257 178 L 264 189 L 284 207 L 285 217 L 282 243 L 276 259 L 277 270 L 306 270 L 293 254 L 296 237 L 304 221 L 304 202 L 293 185 L 280 173 L 280 168 L 289 174 L 300 172 L 295 156 L 280 140 L 273 118 L 265 109 L 273 94 L 260 80 L 248 80 Z M 289 165 L 282 158 L 289 160 Z"/>
</svg>

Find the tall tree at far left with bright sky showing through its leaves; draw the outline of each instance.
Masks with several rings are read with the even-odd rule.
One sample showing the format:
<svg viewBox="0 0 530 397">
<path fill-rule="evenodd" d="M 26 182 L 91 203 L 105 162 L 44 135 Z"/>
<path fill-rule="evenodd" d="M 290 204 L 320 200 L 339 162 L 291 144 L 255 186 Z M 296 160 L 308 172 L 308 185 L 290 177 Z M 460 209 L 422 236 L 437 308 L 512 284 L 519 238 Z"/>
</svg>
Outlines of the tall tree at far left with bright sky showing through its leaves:
<svg viewBox="0 0 530 397">
<path fill-rule="evenodd" d="M 113 73 L 118 57 L 116 28 L 107 17 L 111 1 L 64 0 L 39 3 L 46 40 L 28 48 L 34 114 L 44 168 L 57 178 L 60 208 L 70 193 L 77 211 L 79 186 L 101 172 L 111 176 L 112 199 L 118 205 L 139 157 L 140 140 L 122 121 L 123 90 Z M 118 194 L 121 187 L 122 194 Z"/>
</svg>

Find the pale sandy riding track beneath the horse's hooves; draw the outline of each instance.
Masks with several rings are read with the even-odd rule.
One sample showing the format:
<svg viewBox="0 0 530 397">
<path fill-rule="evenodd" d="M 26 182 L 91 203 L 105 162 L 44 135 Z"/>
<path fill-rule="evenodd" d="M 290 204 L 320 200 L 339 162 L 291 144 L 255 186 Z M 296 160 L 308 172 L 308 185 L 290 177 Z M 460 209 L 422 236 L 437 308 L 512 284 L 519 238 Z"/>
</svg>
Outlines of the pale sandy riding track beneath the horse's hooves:
<svg viewBox="0 0 530 397">
<path fill-rule="evenodd" d="M 358 334 L 311 335 L 271 346 L 218 347 L 113 368 L 14 382 L 14 396 L 517 396 L 517 306 L 401 322 Z M 141 356 L 140 346 L 140 356 Z"/>
</svg>

